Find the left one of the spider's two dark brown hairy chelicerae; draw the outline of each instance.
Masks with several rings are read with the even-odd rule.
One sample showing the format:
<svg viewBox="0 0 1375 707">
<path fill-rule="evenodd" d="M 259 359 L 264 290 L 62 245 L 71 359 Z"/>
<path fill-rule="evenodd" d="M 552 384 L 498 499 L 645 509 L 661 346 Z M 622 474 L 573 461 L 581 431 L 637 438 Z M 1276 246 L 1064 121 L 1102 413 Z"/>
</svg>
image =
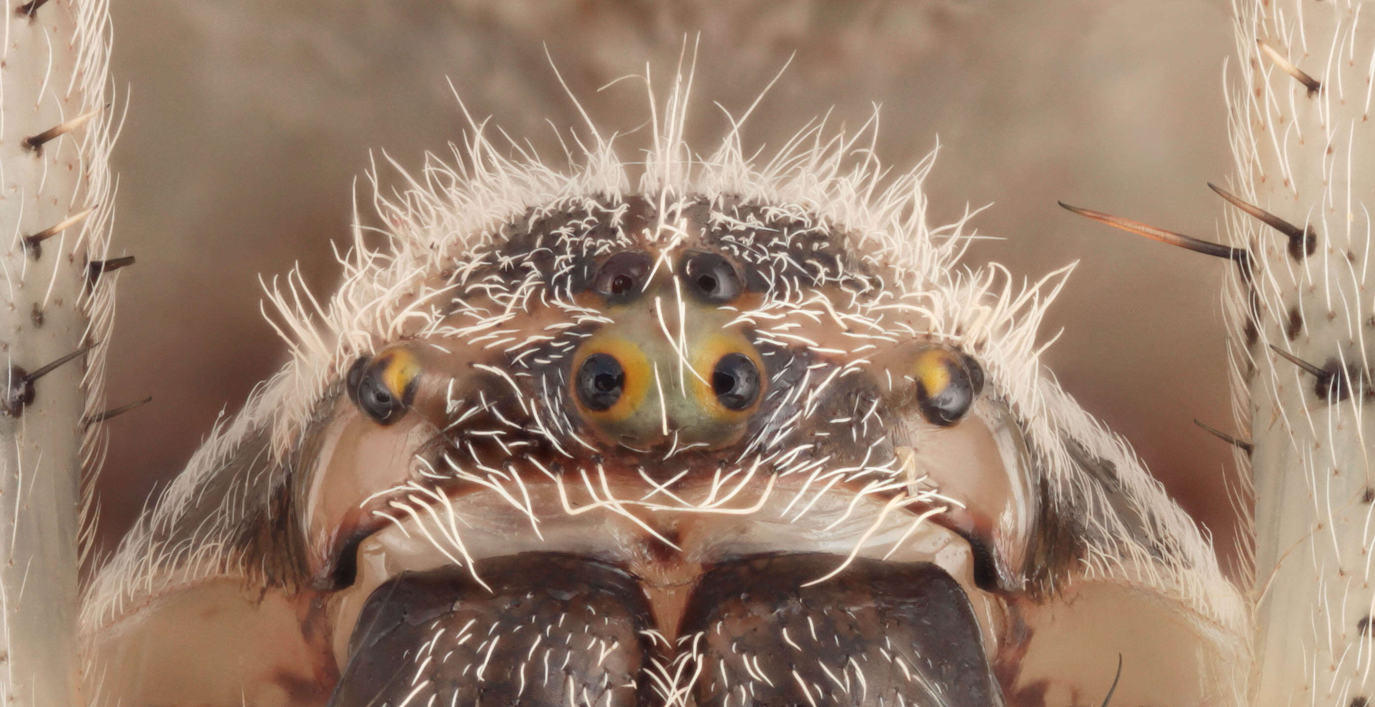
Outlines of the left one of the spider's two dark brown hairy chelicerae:
<svg viewBox="0 0 1375 707">
<path fill-rule="evenodd" d="M 652 627 L 635 578 L 587 557 L 536 552 L 404 572 L 368 597 L 329 704 L 415 693 L 414 704 L 439 695 L 441 704 L 645 706 Z"/>
</svg>

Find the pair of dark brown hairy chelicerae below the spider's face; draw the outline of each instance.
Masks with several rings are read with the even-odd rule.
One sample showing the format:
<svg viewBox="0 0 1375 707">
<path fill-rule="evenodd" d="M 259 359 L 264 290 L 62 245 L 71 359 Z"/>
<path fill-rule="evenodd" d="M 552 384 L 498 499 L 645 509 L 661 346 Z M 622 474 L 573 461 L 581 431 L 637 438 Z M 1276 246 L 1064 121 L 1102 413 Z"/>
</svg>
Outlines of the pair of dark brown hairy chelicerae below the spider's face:
<svg viewBox="0 0 1375 707">
<path fill-rule="evenodd" d="M 719 563 L 692 588 L 675 638 L 656 626 L 642 578 L 584 556 L 481 560 L 491 590 L 456 567 L 404 572 L 368 597 L 329 704 L 1002 703 L 945 570 L 862 560 L 803 586 L 836 561 Z"/>
</svg>

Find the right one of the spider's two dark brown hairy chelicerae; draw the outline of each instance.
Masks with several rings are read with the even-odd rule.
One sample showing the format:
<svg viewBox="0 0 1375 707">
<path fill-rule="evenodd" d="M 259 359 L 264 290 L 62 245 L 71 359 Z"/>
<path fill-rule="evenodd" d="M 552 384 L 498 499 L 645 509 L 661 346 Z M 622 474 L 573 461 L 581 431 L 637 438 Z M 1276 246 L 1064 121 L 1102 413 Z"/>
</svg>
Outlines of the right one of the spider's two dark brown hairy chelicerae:
<svg viewBox="0 0 1375 707">
<path fill-rule="evenodd" d="M 803 586 L 839 561 L 780 555 L 703 575 L 682 626 L 701 633 L 697 704 L 1002 704 L 958 582 L 930 563 L 855 560 Z"/>
</svg>

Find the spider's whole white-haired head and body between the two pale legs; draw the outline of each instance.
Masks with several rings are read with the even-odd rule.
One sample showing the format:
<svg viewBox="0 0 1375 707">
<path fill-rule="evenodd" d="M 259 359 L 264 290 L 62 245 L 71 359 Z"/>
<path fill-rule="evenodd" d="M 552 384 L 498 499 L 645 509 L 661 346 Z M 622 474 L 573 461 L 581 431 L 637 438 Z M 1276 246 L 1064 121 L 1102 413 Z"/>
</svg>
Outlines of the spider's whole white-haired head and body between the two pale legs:
<svg viewBox="0 0 1375 707">
<path fill-rule="evenodd" d="M 1236 699 L 1244 603 L 1013 290 L 820 128 L 473 137 L 95 581 L 100 704 Z M 858 158 L 852 155 L 859 155 Z M 880 184 L 883 187 L 880 188 Z"/>
</svg>

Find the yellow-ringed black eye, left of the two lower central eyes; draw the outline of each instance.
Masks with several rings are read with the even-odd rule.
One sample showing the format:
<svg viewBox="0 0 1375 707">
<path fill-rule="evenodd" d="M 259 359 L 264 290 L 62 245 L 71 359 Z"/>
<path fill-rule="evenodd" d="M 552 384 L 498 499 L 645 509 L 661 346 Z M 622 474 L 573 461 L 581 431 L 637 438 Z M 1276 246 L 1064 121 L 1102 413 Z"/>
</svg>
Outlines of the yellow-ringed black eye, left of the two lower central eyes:
<svg viewBox="0 0 1375 707">
<path fill-rule="evenodd" d="M 653 367 L 639 346 L 597 335 L 573 354 L 572 398 L 588 417 L 624 421 L 645 402 L 652 376 Z"/>
</svg>

